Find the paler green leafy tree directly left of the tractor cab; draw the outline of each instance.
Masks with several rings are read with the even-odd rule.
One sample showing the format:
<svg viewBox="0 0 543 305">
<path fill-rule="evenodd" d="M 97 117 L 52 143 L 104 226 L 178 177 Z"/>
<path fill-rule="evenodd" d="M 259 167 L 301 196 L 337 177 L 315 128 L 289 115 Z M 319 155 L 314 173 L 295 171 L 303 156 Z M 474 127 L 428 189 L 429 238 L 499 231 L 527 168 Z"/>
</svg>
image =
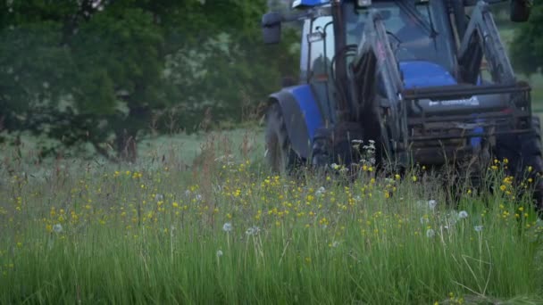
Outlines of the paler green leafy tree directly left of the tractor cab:
<svg viewBox="0 0 543 305">
<path fill-rule="evenodd" d="M 195 13 L 180 27 L 186 36 L 172 35 L 168 40 L 167 45 L 182 45 L 169 56 L 167 67 L 171 82 L 189 97 L 180 103 L 178 117 L 188 131 L 198 127 L 207 109 L 214 121 L 247 119 L 250 109 L 280 88 L 282 76 L 296 74 L 299 54 L 288 52 L 298 40 L 294 31 L 286 31 L 279 46 L 262 43 L 259 22 L 265 3 L 193 5 Z"/>
</svg>

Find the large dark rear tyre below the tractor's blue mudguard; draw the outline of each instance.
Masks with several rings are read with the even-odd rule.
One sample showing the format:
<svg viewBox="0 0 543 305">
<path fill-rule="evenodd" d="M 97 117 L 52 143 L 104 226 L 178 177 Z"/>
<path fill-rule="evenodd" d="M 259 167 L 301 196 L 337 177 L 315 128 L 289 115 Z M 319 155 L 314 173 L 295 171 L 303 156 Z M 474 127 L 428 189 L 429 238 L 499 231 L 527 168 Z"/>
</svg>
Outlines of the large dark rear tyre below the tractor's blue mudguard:
<svg viewBox="0 0 543 305">
<path fill-rule="evenodd" d="M 292 149 L 285 119 L 279 103 L 273 103 L 266 112 L 265 158 L 273 172 L 288 173 L 301 164 Z"/>
</svg>

